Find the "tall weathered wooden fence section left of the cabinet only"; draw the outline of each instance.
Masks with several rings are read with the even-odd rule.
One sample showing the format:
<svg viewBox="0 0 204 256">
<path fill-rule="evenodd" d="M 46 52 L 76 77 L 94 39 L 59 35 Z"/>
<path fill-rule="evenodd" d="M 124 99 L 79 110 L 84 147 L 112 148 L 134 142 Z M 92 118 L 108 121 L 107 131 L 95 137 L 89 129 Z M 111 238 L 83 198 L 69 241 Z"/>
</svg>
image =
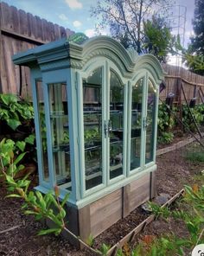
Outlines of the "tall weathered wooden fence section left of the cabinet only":
<svg viewBox="0 0 204 256">
<path fill-rule="evenodd" d="M 29 68 L 14 65 L 11 56 L 73 33 L 39 16 L 0 3 L 0 93 L 30 97 Z"/>
</svg>

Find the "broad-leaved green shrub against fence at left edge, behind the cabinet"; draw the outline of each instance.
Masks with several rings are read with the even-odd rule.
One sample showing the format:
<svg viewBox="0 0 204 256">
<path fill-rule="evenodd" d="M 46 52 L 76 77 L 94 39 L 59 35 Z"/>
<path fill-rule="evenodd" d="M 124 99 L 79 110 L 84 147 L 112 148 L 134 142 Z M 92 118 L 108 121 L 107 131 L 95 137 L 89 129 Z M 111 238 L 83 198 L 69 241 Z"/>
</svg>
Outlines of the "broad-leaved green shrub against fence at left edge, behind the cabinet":
<svg viewBox="0 0 204 256">
<path fill-rule="evenodd" d="M 19 125 L 29 125 L 34 118 L 33 106 L 14 94 L 0 94 L 0 120 L 6 121 L 12 130 Z"/>
</svg>

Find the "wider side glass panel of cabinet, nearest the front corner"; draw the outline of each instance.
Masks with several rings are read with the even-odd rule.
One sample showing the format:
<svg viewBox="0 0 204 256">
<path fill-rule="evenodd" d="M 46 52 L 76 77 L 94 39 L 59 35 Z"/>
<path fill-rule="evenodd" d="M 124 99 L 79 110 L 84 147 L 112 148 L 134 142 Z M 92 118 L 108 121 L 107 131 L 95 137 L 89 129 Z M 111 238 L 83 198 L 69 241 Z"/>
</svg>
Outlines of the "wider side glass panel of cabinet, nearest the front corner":
<svg viewBox="0 0 204 256">
<path fill-rule="evenodd" d="M 49 110 L 56 183 L 71 190 L 69 126 L 66 84 L 49 84 Z"/>
</svg>

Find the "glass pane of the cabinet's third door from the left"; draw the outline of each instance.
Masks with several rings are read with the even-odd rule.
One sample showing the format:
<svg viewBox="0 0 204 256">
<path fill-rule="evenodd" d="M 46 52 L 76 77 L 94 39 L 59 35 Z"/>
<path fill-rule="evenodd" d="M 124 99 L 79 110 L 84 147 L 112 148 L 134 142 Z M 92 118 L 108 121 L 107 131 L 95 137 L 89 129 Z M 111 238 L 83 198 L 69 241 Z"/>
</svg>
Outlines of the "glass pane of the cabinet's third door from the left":
<svg viewBox="0 0 204 256">
<path fill-rule="evenodd" d="M 131 170 L 141 163 L 141 129 L 143 107 L 143 78 L 132 87 L 131 94 Z"/>
</svg>

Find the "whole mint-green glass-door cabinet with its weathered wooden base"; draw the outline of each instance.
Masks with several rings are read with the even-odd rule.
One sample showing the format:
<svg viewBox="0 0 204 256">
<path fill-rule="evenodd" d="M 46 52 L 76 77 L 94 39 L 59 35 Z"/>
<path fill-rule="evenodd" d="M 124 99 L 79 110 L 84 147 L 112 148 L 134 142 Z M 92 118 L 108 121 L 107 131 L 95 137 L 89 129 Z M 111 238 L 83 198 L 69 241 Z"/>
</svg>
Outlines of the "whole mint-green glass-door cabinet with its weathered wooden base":
<svg viewBox="0 0 204 256">
<path fill-rule="evenodd" d="M 50 42 L 13 61 L 31 71 L 36 189 L 47 193 L 57 185 L 61 197 L 70 193 L 75 234 L 96 236 L 154 195 L 163 69 L 153 55 L 138 56 L 99 36 L 81 44 Z"/>
</svg>

